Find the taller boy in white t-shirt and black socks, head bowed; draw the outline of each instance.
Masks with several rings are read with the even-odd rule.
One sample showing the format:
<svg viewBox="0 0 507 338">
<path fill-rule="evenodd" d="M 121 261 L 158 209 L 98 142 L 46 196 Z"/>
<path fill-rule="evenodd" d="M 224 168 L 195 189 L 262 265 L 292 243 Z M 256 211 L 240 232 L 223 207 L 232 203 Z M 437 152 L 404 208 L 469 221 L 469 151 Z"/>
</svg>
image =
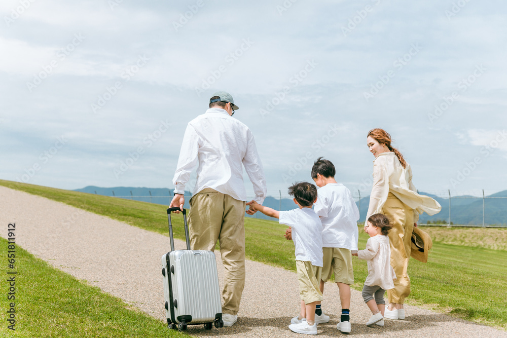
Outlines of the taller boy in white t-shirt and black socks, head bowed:
<svg viewBox="0 0 507 338">
<path fill-rule="evenodd" d="M 351 250 L 357 251 L 357 220 L 359 210 L 350 191 L 335 180 L 335 166 L 331 161 L 319 157 L 312 168 L 312 178 L 319 187 L 314 211 L 322 221 L 323 265 L 320 291 L 333 272 L 340 290 L 342 314 L 336 328 L 344 333 L 350 332 L 350 284 L 354 282 Z M 317 302 L 315 320 L 327 323 L 329 316 L 322 313 Z"/>
</svg>

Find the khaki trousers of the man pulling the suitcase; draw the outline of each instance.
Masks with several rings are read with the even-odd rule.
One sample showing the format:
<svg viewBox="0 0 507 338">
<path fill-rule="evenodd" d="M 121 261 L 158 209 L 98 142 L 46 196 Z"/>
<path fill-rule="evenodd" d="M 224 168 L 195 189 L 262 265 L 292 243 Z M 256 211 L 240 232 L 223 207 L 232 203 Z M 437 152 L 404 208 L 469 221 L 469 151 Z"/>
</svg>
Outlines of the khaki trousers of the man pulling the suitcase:
<svg viewBox="0 0 507 338">
<path fill-rule="evenodd" d="M 220 241 L 225 268 L 222 312 L 231 315 L 239 311 L 245 286 L 245 204 L 210 188 L 190 199 L 190 247 L 214 251 Z"/>
</svg>

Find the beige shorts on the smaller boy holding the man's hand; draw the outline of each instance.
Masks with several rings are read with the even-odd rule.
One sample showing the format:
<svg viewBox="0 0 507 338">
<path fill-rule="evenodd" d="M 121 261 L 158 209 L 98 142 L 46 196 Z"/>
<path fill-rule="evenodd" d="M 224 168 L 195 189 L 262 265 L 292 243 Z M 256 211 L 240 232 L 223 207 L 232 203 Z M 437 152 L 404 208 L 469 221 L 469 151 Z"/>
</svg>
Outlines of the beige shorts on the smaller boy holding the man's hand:
<svg viewBox="0 0 507 338">
<path fill-rule="evenodd" d="M 321 267 L 313 266 L 308 260 L 296 260 L 299 296 L 305 304 L 322 301 L 322 292 L 320 292 L 321 269 Z"/>
</svg>

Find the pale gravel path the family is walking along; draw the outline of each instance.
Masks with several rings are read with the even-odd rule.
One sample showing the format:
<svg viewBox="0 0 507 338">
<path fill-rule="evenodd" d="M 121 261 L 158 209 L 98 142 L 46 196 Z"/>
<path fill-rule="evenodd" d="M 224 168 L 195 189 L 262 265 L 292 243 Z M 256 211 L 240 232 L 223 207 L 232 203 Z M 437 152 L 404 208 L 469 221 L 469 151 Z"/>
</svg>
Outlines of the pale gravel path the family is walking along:
<svg viewBox="0 0 507 338">
<path fill-rule="evenodd" d="M 165 321 L 160 258 L 169 250 L 168 237 L 4 186 L 0 186 L 0 203 L 2 224 L 16 223 L 18 245 L 52 266 Z M 6 237 L 7 233 L 3 231 L 0 235 Z M 179 240 L 175 240 L 175 245 L 185 247 Z M 220 252 L 215 253 L 220 257 Z M 220 261 L 218 267 L 222 279 Z M 291 318 L 299 313 L 298 294 L 295 273 L 247 261 L 237 324 L 221 329 L 213 327 L 210 331 L 201 325 L 189 325 L 188 333 L 202 337 L 301 337 L 287 328 Z M 326 284 L 322 307 L 331 321 L 319 324 L 318 335 L 342 335 L 336 329 L 340 304 L 335 284 Z M 370 312 L 360 292 L 352 290 L 349 335 L 507 337 L 507 332 L 488 326 L 414 306 L 405 308 L 405 320 L 386 320 L 384 327 L 367 327 Z"/>
</svg>

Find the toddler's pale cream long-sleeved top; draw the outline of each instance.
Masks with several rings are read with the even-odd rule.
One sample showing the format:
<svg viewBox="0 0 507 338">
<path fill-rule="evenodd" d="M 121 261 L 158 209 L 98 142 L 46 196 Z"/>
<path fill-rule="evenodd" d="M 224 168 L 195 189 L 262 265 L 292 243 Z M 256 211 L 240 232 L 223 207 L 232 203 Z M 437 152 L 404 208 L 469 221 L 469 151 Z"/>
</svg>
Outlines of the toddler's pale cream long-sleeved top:
<svg viewBox="0 0 507 338">
<path fill-rule="evenodd" d="M 387 236 L 370 237 L 366 249 L 357 251 L 357 257 L 368 260 L 368 277 L 365 285 L 380 286 L 384 290 L 394 288 L 396 274 L 391 267 L 391 249 Z"/>
</svg>

